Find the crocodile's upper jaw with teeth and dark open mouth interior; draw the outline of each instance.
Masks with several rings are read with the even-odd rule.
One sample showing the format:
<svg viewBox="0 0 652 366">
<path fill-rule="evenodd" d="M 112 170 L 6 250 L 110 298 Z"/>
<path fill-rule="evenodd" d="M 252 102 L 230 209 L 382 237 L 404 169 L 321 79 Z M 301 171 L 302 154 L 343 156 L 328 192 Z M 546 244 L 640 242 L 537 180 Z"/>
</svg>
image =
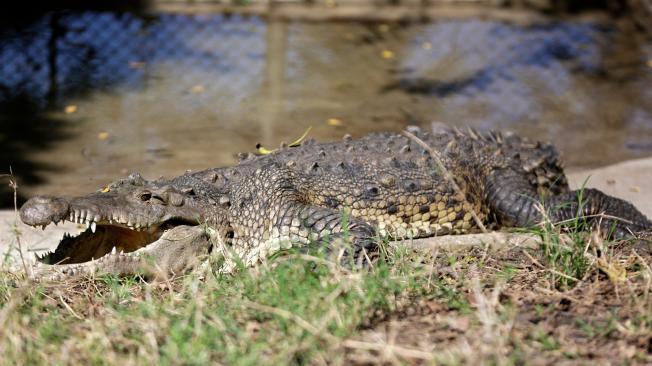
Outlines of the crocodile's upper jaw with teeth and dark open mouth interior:
<svg viewBox="0 0 652 366">
<path fill-rule="evenodd" d="M 202 222 L 200 210 L 183 205 L 183 199 L 172 193 L 165 196 L 167 200 L 157 198 L 156 202 L 151 202 L 150 196 L 152 193 L 143 190 L 74 198 L 36 196 L 21 207 L 20 217 L 25 224 L 43 229 L 66 221 L 86 226 L 79 235 L 65 234 L 54 252 L 39 257 L 48 264 L 83 263 L 112 252 L 131 253 L 160 242 L 166 231 Z"/>
</svg>

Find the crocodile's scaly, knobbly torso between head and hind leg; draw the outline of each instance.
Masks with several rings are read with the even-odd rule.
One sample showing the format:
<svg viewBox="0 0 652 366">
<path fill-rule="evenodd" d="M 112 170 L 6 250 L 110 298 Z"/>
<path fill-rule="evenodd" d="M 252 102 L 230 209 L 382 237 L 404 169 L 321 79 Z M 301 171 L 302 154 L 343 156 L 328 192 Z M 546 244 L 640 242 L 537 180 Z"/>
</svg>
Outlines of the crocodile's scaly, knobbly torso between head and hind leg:
<svg viewBox="0 0 652 366">
<path fill-rule="evenodd" d="M 409 131 L 437 156 L 407 136 L 378 132 L 357 140 L 345 136 L 329 143 L 284 144 L 268 155 L 241 154 L 235 167 L 193 177 L 212 185 L 214 199 L 227 211 L 227 231 L 236 246 L 246 241 L 243 247 L 269 240 L 277 247 L 274 234 L 284 232 L 292 240 L 309 240 L 304 223 L 292 217 L 300 206 L 344 213 L 396 237 L 472 231 L 472 212 L 481 220 L 488 217 L 484 180 L 496 169 L 516 169 L 542 191 L 566 189 L 559 155 L 549 144 L 495 131 Z M 436 159 L 460 192 L 444 178 Z M 314 223 L 323 233 L 337 228 L 322 221 Z"/>
</svg>

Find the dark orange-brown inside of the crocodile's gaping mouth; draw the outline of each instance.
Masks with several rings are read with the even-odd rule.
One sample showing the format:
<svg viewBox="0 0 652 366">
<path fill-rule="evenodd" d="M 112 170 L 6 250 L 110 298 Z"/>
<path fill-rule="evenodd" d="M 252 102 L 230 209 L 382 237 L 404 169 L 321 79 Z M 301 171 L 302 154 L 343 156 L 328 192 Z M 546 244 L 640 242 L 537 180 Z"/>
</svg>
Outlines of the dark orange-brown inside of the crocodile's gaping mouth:
<svg viewBox="0 0 652 366">
<path fill-rule="evenodd" d="M 99 259 L 109 253 L 130 253 L 156 242 L 163 233 L 177 226 L 198 225 L 196 221 L 180 218 L 148 225 L 113 219 L 87 221 L 74 215 L 71 221 L 85 224 L 86 230 L 76 236 L 64 234 L 55 251 L 38 257 L 39 261 L 46 264 L 73 264 Z"/>
</svg>

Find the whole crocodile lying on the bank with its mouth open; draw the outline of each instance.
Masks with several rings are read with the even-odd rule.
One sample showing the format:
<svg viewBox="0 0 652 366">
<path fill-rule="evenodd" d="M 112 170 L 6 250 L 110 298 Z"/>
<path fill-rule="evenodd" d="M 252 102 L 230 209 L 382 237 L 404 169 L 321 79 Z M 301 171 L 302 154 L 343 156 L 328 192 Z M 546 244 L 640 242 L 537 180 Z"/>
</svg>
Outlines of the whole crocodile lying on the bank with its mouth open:
<svg viewBox="0 0 652 366">
<path fill-rule="evenodd" d="M 410 135 L 410 136 L 409 136 Z M 219 250 L 252 266 L 290 248 L 324 248 L 357 264 L 393 239 L 532 227 L 580 218 L 620 238 L 652 230 L 631 203 L 569 189 L 552 144 L 511 133 L 427 132 L 240 154 L 231 167 L 147 180 L 137 173 L 79 197 L 36 196 L 24 223 L 86 224 L 40 258 L 60 273 L 178 273 Z"/>
</svg>

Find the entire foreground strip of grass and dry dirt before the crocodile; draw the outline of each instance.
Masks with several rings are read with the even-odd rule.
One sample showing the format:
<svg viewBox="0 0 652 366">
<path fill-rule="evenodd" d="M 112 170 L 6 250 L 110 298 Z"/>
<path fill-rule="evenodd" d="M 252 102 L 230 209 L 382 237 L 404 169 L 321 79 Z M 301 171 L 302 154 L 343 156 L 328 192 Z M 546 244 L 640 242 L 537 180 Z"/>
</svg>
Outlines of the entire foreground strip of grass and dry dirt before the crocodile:
<svg viewBox="0 0 652 366">
<path fill-rule="evenodd" d="M 650 244 L 601 245 L 563 289 L 522 248 L 390 247 L 369 270 L 288 254 L 233 275 L 216 258 L 155 283 L 5 271 L 1 363 L 652 362 Z"/>
</svg>

